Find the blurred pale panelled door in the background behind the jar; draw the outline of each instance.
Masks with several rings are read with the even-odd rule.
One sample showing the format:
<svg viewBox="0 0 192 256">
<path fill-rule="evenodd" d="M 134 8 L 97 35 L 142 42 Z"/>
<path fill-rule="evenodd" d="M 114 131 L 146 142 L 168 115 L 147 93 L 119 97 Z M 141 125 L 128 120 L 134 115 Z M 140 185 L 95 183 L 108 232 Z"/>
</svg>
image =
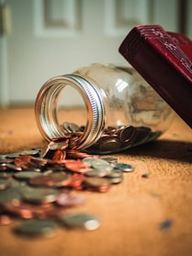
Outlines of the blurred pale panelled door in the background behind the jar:
<svg viewBox="0 0 192 256">
<path fill-rule="evenodd" d="M 192 38 L 190 0 L 0 0 L 0 6 L 0 106 L 34 104 L 45 81 L 83 65 L 127 64 L 119 45 L 136 25 L 160 24 Z"/>
</svg>

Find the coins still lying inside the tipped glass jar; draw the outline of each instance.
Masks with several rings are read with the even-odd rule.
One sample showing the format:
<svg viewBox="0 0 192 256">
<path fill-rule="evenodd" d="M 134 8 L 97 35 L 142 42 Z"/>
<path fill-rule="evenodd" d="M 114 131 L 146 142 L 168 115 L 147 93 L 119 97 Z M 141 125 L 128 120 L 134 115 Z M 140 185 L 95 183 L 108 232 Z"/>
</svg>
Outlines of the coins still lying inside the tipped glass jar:
<svg viewBox="0 0 192 256">
<path fill-rule="evenodd" d="M 78 141 L 84 134 L 85 126 L 78 126 L 73 122 L 63 122 L 61 128 L 63 133 L 69 137 L 69 147 L 73 149 L 78 147 Z M 152 132 L 152 129 L 147 126 L 107 126 L 97 142 L 86 148 L 85 152 L 92 154 L 115 153 L 150 142 L 160 135 L 161 132 Z"/>
</svg>

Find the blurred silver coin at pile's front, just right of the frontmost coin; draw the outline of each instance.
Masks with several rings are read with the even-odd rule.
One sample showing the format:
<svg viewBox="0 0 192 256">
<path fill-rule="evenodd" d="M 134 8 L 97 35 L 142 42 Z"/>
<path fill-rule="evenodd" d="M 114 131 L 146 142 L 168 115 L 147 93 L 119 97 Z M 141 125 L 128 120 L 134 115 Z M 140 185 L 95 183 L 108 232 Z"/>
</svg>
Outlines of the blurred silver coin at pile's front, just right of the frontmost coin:
<svg viewBox="0 0 192 256">
<path fill-rule="evenodd" d="M 100 222 L 95 215 L 80 214 L 65 214 L 59 218 L 60 222 L 66 227 L 80 227 L 87 230 L 95 230 L 100 226 Z"/>
</svg>

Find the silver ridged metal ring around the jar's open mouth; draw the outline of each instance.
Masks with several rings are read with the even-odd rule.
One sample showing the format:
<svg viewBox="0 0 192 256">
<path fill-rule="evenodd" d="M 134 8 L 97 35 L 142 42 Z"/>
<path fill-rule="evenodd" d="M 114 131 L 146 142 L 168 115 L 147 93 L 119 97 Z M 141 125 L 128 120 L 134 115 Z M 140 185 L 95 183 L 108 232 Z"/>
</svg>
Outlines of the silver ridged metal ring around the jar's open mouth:
<svg viewBox="0 0 192 256">
<path fill-rule="evenodd" d="M 35 117 L 40 134 L 47 140 L 66 135 L 58 119 L 58 99 L 66 86 L 73 87 L 85 103 L 87 118 L 85 130 L 75 141 L 76 149 L 85 149 L 96 143 L 105 126 L 105 106 L 99 89 L 82 76 L 55 76 L 41 88 L 35 103 Z"/>
</svg>

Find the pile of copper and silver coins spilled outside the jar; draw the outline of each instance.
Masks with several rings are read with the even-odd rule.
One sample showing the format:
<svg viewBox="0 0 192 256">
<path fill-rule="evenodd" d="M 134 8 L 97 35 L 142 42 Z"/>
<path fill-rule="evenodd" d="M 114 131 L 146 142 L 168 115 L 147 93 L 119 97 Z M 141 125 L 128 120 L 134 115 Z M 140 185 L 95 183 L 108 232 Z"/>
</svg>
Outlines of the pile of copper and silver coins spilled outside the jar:
<svg viewBox="0 0 192 256">
<path fill-rule="evenodd" d="M 114 157 L 88 155 L 69 148 L 69 137 L 43 148 L 0 155 L 0 222 L 26 219 L 14 231 L 36 237 L 53 236 L 57 227 L 100 226 L 96 215 L 72 213 L 85 204 L 75 191 L 107 192 L 134 168 Z"/>
</svg>

